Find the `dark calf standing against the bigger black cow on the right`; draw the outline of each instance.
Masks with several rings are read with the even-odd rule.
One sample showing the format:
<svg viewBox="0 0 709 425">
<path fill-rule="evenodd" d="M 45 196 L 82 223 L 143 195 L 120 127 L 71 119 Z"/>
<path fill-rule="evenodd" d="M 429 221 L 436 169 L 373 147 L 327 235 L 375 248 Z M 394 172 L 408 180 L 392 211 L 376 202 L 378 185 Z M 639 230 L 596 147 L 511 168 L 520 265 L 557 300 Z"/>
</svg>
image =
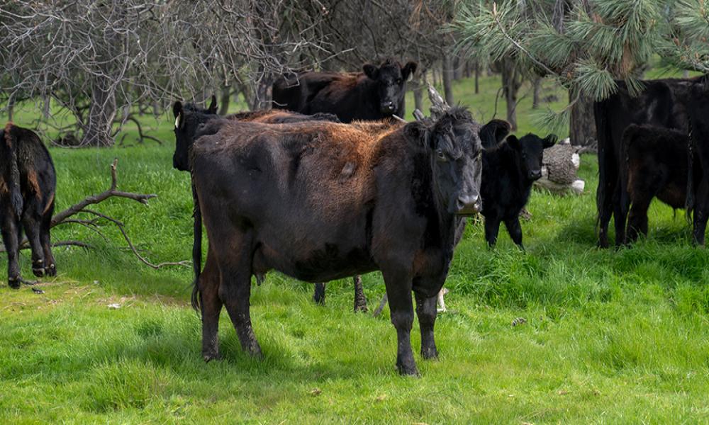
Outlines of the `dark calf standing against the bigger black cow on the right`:
<svg viewBox="0 0 709 425">
<path fill-rule="evenodd" d="M 647 236 L 647 209 L 652 198 L 657 196 L 672 208 L 685 207 L 688 146 L 688 135 L 679 130 L 631 124 L 623 132 L 623 210 L 630 204 L 626 242 L 634 242 L 638 232 Z"/>
</svg>

